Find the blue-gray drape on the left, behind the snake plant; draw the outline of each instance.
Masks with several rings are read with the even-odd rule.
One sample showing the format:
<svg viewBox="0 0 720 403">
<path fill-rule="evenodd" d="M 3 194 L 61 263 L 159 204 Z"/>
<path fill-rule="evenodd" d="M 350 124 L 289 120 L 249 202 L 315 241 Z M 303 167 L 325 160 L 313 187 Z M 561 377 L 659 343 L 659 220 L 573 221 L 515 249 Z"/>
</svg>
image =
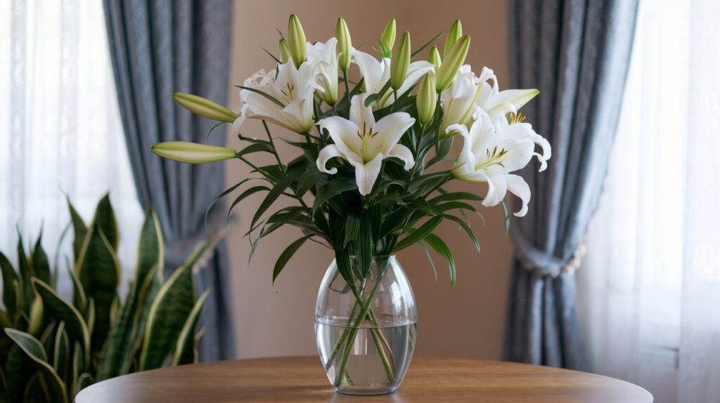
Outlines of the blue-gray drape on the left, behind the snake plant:
<svg viewBox="0 0 720 403">
<path fill-rule="evenodd" d="M 224 145 L 225 131 L 207 138 L 212 122 L 171 100 L 188 92 L 227 102 L 231 0 L 104 0 L 109 48 L 122 123 L 138 197 L 154 206 L 166 241 L 166 267 L 175 269 L 199 241 L 218 231 L 222 207 L 204 225 L 205 209 L 222 192 L 222 163 L 185 165 L 150 152 L 157 142 Z M 204 307 L 202 361 L 235 356 L 229 261 L 220 244 L 199 265 L 198 292 L 212 288 Z"/>
</svg>

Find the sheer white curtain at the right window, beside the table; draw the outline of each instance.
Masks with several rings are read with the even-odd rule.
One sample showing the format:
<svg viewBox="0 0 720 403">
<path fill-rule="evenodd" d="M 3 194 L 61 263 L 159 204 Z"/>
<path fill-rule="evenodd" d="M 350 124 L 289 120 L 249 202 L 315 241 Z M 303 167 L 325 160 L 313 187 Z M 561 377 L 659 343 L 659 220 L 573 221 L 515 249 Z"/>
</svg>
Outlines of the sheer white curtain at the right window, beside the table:
<svg viewBox="0 0 720 403">
<path fill-rule="evenodd" d="M 578 272 L 594 371 L 720 402 L 720 1 L 640 2 L 606 190 Z"/>
</svg>

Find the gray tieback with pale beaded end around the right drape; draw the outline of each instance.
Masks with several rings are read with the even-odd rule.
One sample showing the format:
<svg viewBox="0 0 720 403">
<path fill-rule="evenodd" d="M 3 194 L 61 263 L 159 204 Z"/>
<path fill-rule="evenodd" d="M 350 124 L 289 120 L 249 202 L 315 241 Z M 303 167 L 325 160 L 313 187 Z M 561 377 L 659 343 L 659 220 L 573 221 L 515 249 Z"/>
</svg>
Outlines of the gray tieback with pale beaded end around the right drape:
<svg viewBox="0 0 720 403">
<path fill-rule="evenodd" d="M 585 241 L 581 241 L 570 259 L 560 259 L 531 245 L 524 236 L 514 235 L 513 241 L 516 244 L 516 256 L 523 269 L 536 272 L 540 276 L 557 277 L 562 273 L 575 274 L 575 271 L 580 269 L 582 256 L 588 252 Z"/>
</svg>

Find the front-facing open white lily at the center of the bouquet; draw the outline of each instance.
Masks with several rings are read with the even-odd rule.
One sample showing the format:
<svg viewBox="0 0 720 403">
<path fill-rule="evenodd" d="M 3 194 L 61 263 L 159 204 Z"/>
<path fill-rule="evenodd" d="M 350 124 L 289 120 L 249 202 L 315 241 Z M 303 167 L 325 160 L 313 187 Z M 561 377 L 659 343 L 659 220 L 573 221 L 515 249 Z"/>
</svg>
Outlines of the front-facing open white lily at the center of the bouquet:
<svg viewBox="0 0 720 403">
<path fill-rule="evenodd" d="M 318 121 L 320 129 L 327 129 L 335 144 L 325 146 L 318 155 L 318 170 L 330 175 L 337 168 L 325 165 L 330 158 L 341 157 L 355 167 L 355 180 L 361 195 L 372 191 L 380 174 L 382 160 L 398 158 L 410 170 L 415 165 L 413 153 L 400 142 L 415 119 L 405 112 L 396 112 L 375 121 L 372 108 L 365 106 L 367 94 L 354 96 L 350 102 L 350 120 L 330 116 Z"/>
</svg>

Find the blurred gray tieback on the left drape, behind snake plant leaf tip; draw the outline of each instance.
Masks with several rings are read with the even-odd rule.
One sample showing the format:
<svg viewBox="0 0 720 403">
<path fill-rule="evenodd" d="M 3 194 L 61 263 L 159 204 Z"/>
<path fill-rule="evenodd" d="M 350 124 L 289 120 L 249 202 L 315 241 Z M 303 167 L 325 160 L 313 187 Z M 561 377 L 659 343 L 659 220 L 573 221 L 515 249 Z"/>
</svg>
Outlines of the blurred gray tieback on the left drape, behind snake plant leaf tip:
<svg viewBox="0 0 720 403">
<path fill-rule="evenodd" d="M 208 261 L 215 254 L 215 244 L 225 237 L 225 214 L 222 208 L 215 208 L 207 217 L 207 226 L 203 225 L 190 236 L 166 241 L 165 243 L 165 263 L 172 269 L 180 267 L 181 264 L 192 254 L 195 248 L 205 241 L 210 242 L 210 248 L 202 254 L 197 263 L 195 270 L 200 271 L 207 266 Z M 232 219 L 230 220 L 232 221 Z"/>
</svg>

